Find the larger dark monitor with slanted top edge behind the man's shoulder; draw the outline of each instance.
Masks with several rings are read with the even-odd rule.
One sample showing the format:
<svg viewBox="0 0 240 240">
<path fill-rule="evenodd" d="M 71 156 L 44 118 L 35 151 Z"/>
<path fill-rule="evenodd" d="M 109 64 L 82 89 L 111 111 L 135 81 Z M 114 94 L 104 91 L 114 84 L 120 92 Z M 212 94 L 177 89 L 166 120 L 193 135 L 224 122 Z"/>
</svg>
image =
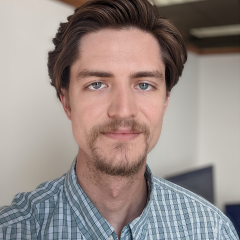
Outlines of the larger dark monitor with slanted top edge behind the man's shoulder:
<svg viewBox="0 0 240 240">
<path fill-rule="evenodd" d="M 214 204 L 213 166 L 165 177 Z"/>
</svg>

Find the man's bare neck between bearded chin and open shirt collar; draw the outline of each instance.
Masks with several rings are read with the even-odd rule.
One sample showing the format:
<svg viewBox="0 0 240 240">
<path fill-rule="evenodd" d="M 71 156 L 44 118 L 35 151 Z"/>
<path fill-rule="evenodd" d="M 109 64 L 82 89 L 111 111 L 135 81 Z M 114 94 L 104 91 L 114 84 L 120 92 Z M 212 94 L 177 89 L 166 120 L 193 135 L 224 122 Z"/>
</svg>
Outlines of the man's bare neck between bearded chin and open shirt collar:
<svg viewBox="0 0 240 240">
<path fill-rule="evenodd" d="M 145 164 L 134 176 L 109 176 L 90 167 L 78 154 L 78 183 L 120 238 L 123 227 L 141 215 L 147 203 Z"/>
</svg>

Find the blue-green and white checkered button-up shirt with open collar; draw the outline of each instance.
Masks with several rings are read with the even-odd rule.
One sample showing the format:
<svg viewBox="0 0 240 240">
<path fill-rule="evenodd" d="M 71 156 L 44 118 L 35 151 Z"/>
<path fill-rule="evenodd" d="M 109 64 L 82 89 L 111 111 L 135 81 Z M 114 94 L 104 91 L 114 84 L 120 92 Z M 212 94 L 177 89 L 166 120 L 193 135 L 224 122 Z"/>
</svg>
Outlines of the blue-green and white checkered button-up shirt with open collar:
<svg viewBox="0 0 240 240">
<path fill-rule="evenodd" d="M 74 161 L 61 178 L 19 193 L 0 209 L 0 239 L 117 240 L 114 228 L 101 216 L 77 183 Z M 166 180 L 145 177 L 149 200 L 142 214 L 122 230 L 121 239 L 237 240 L 229 219 L 203 198 Z"/>
</svg>

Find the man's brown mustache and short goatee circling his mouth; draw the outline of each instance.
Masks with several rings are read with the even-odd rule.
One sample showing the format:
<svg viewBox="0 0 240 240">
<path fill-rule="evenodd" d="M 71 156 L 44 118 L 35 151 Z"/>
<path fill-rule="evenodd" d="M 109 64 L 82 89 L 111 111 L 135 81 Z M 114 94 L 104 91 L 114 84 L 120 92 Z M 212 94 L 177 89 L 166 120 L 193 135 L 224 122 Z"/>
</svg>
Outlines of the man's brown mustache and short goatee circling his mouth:
<svg viewBox="0 0 240 240">
<path fill-rule="evenodd" d="M 114 133 L 120 127 L 131 129 L 132 133 L 143 134 L 144 146 L 139 149 L 136 144 L 128 142 L 119 142 L 104 146 L 109 149 L 109 154 L 103 154 L 102 149 L 97 145 L 97 140 L 101 134 Z M 88 146 L 92 153 L 92 163 L 97 171 L 111 176 L 131 177 L 136 175 L 146 163 L 147 153 L 149 149 L 150 130 L 144 123 L 138 123 L 134 119 L 114 119 L 108 123 L 95 126 L 88 137 Z M 136 155 L 129 159 L 130 152 L 136 152 Z M 116 159 L 118 158 L 118 159 Z M 117 163 L 116 163 L 117 160 Z"/>
</svg>

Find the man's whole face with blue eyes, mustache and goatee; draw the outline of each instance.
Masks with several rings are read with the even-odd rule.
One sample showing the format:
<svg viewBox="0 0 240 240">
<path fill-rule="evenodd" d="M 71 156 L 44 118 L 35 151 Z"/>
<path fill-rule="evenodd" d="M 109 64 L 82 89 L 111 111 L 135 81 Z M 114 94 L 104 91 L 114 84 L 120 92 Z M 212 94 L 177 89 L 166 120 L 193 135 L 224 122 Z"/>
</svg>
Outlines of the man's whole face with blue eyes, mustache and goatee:
<svg viewBox="0 0 240 240">
<path fill-rule="evenodd" d="M 78 161 L 109 175 L 137 173 L 158 141 L 169 99 L 157 40 L 136 28 L 85 35 L 61 99 Z"/>
</svg>

